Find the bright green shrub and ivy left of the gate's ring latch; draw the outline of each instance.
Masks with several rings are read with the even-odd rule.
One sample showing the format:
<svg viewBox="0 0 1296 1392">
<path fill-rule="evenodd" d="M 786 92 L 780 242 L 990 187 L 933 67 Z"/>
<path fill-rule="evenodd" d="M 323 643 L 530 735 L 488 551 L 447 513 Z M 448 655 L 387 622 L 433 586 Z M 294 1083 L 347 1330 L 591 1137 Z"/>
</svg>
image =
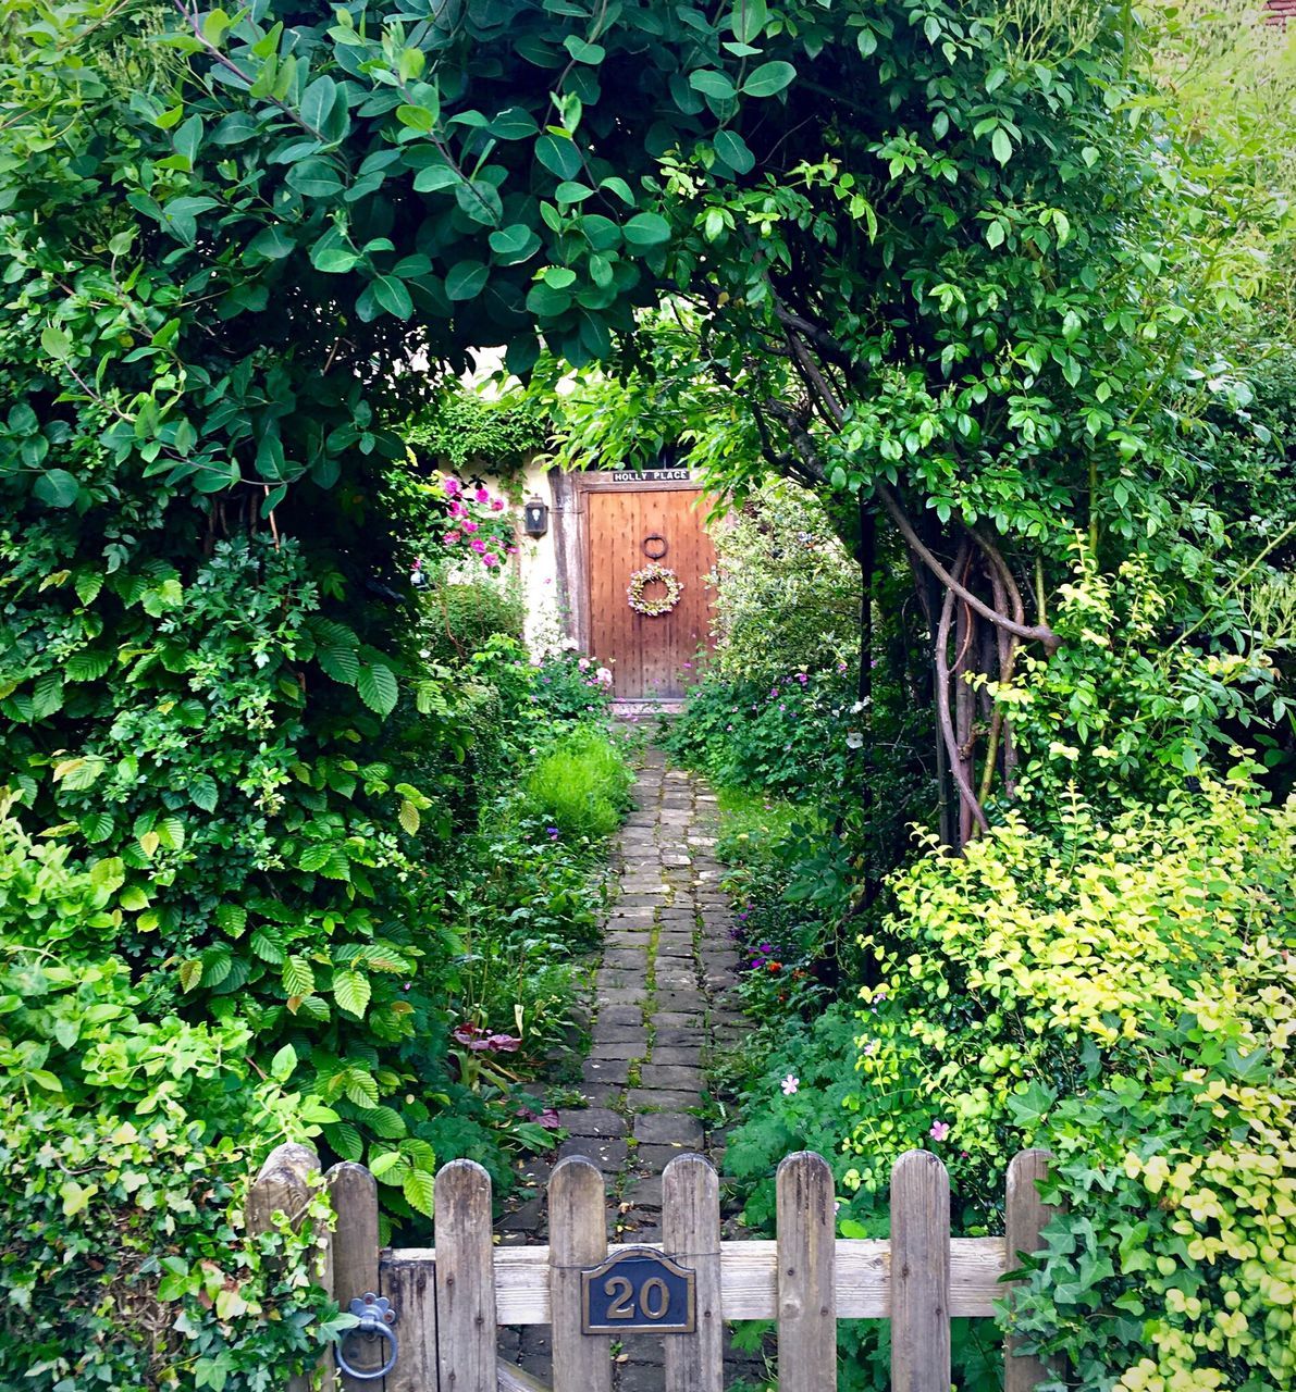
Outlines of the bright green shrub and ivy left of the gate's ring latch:
<svg viewBox="0 0 1296 1392">
<path fill-rule="evenodd" d="M 89 1392 L 183 1381 L 269 1392 L 336 1324 L 314 1235 L 251 1237 L 248 1182 L 334 1114 L 258 1077 L 242 1022 L 149 1018 L 125 962 L 85 958 L 121 885 L 0 813 L 0 1384 Z"/>
</svg>

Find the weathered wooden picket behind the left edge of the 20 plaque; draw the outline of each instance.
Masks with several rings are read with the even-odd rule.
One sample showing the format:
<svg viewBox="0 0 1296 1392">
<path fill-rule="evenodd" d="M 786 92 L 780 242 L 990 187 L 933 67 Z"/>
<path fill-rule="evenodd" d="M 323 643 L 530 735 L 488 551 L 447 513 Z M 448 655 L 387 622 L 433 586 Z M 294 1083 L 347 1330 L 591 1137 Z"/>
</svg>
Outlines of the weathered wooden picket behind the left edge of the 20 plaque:
<svg viewBox="0 0 1296 1392">
<path fill-rule="evenodd" d="M 581 1334 L 581 1267 L 608 1256 L 608 1194 L 599 1169 L 569 1155 L 549 1176 L 549 1302 L 553 1386 L 612 1392 L 612 1338 Z"/>
</svg>

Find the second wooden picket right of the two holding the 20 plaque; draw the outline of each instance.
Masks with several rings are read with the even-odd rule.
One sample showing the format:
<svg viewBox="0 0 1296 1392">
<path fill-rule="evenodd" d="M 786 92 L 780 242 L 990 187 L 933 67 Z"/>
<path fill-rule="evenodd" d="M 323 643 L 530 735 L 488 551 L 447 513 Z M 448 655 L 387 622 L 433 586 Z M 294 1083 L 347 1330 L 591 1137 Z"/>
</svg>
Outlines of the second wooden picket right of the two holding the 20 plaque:
<svg viewBox="0 0 1296 1392">
<path fill-rule="evenodd" d="M 949 1392 L 949 1175 L 927 1150 L 890 1172 L 892 1392 Z"/>
</svg>

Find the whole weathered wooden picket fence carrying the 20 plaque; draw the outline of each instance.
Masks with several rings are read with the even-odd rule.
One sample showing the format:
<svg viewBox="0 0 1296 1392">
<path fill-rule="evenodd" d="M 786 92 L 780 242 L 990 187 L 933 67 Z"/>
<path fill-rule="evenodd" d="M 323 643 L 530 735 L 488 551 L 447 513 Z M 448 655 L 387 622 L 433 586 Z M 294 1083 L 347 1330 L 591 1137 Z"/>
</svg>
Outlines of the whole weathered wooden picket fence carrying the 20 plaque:
<svg viewBox="0 0 1296 1392">
<path fill-rule="evenodd" d="M 1012 1161 L 1005 1237 L 950 1237 L 945 1166 L 909 1151 L 892 1171 L 890 1239 L 860 1240 L 836 1237 L 829 1166 L 801 1151 L 779 1165 L 778 1239 L 722 1242 L 715 1169 L 701 1155 L 676 1157 L 662 1178 L 662 1242 L 640 1244 L 694 1274 L 691 1331 L 662 1335 L 665 1392 L 722 1392 L 729 1320 L 778 1321 L 779 1392 L 833 1392 L 838 1320 L 890 1321 L 893 1392 L 949 1392 L 950 1318 L 992 1318 L 994 1303 L 1012 1295 L 1002 1278 L 1042 1246 L 1051 1212 L 1037 1180 L 1047 1165 L 1038 1150 Z M 316 1169 L 307 1147 L 275 1151 L 249 1196 L 249 1228 L 263 1231 L 276 1210 L 300 1212 Z M 325 1285 L 343 1308 L 367 1292 L 386 1297 L 396 1322 L 394 1339 L 348 1338 L 360 1377 L 326 1359 L 316 1374 L 325 1392 L 541 1392 L 497 1354 L 499 1327 L 527 1324 L 552 1327 L 555 1392 L 610 1392 L 613 1339 L 581 1332 L 581 1278 L 630 1249 L 608 1244 L 603 1176 L 587 1160 L 553 1169 L 546 1247 L 495 1244 L 491 1178 L 472 1161 L 436 1176 L 433 1249 L 379 1250 L 376 1185 L 364 1166 L 334 1165 L 326 1182 L 337 1224 Z M 1012 1339 L 1006 1354 L 1005 1392 L 1030 1392 L 1051 1375 Z M 308 1385 L 294 1379 L 287 1392 Z"/>
</svg>

